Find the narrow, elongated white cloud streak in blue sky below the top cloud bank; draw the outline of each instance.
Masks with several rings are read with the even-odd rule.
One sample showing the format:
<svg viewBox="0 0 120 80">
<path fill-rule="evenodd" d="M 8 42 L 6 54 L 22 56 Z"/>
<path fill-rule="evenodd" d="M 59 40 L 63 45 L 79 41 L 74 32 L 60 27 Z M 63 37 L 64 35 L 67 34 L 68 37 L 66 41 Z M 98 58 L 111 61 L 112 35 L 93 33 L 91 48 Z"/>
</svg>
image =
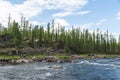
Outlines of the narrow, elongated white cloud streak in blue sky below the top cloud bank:
<svg viewBox="0 0 120 80">
<path fill-rule="evenodd" d="M 61 13 L 56 13 L 53 14 L 53 17 L 65 17 L 69 15 L 85 15 L 88 14 L 90 11 L 80 11 L 80 12 L 61 12 Z"/>
</svg>

